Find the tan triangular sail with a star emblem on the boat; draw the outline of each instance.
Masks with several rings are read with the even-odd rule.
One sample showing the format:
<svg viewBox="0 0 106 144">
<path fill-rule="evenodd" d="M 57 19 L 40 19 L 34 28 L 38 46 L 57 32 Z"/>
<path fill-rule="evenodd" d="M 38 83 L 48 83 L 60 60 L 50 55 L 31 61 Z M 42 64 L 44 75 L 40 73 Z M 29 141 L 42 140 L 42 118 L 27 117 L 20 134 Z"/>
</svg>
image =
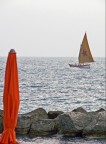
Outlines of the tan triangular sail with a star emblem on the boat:
<svg viewBox="0 0 106 144">
<path fill-rule="evenodd" d="M 86 63 L 86 62 L 94 62 L 94 59 L 92 57 L 87 40 L 87 35 L 85 33 L 79 52 L 79 63 Z"/>
</svg>

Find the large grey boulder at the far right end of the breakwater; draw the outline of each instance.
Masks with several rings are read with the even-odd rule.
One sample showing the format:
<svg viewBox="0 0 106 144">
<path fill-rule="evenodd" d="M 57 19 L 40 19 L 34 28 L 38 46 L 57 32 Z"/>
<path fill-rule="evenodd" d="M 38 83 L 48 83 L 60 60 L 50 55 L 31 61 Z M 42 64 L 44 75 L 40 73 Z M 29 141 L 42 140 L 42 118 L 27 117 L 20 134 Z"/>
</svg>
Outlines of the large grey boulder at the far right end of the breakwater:
<svg viewBox="0 0 106 144">
<path fill-rule="evenodd" d="M 85 136 L 96 136 L 106 138 L 106 111 L 99 112 L 83 130 Z"/>
</svg>

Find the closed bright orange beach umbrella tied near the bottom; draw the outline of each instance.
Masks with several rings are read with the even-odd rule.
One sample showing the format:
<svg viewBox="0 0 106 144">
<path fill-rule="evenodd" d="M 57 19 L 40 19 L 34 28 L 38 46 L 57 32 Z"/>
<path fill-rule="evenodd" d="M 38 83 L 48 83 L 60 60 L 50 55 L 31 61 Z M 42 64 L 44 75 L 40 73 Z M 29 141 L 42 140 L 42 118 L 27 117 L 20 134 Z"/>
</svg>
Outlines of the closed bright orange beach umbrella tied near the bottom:
<svg viewBox="0 0 106 144">
<path fill-rule="evenodd" d="M 18 68 L 16 53 L 12 49 L 8 54 L 5 83 L 3 94 L 3 124 L 4 131 L 0 138 L 0 144 L 18 144 L 16 141 L 15 128 L 17 125 L 18 109 L 20 104 Z"/>
</svg>

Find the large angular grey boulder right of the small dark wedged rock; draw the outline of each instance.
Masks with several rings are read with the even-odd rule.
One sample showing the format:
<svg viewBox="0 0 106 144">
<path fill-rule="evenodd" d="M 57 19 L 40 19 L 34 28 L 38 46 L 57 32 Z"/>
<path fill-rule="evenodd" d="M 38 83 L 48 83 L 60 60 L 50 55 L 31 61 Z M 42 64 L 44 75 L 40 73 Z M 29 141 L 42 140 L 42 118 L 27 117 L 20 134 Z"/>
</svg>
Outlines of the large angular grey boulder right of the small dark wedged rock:
<svg viewBox="0 0 106 144">
<path fill-rule="evenodd" d="M 59 133 L 65 136 L 82 136 L 83 129 L 92 121 L 87 113 L 71 112 L 59 116 Z"/>
</svg>

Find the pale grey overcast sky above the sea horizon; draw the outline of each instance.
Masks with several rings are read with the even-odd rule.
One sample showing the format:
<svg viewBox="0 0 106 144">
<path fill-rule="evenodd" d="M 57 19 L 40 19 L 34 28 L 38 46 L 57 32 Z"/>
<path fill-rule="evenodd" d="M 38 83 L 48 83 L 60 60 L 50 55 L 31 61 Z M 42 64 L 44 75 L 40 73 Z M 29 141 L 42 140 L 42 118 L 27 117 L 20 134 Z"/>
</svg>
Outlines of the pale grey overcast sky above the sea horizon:
<svg viewBox="0 0 106 144">
<path fill-rule="evenodd" d="M 0 56 L 77 57 L 84 33 L 105 56 L 105 0 L 0 0 Z"/>
</svg>

